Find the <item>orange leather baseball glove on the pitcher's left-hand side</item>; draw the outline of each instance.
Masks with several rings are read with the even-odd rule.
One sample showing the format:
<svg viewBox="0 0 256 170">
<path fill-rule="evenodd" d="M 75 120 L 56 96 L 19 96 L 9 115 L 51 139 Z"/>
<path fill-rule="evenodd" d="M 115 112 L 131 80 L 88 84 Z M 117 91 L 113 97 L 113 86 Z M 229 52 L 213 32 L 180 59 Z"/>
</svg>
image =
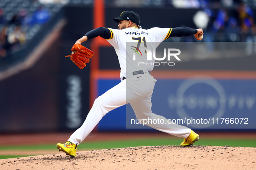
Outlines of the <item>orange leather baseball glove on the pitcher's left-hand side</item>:
<svg viewBox="0 0 256 170">
<path fill-rule="evenodd" d="M 89 63 L 89 59 L 91 59 L 94 54 L 92 50 L 89 50 L 81 44 L 74 44 L 71 50 L 74 50 L 75 54 L 67 55 L 65 57 L 70 57 L 70 60 L 72 60 L 80 69 L 83 69 L 86 66 L 85 63 Z"/>
</svg>

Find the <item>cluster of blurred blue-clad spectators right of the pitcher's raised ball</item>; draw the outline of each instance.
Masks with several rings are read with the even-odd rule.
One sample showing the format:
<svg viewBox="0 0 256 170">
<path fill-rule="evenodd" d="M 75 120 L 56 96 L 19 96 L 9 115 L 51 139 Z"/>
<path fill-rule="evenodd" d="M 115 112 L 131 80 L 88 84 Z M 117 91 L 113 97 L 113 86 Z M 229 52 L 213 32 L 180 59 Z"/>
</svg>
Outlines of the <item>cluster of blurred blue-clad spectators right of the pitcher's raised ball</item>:
<svg viewBox="0 0 256 170">
<path fill-rule="evenodd" d="M 235 10 L 204 9 L 209 17 L 206 41 L 245 42 L 256 41 L 256 23 L 250 6 L 240 3 Z"/>
</svg>

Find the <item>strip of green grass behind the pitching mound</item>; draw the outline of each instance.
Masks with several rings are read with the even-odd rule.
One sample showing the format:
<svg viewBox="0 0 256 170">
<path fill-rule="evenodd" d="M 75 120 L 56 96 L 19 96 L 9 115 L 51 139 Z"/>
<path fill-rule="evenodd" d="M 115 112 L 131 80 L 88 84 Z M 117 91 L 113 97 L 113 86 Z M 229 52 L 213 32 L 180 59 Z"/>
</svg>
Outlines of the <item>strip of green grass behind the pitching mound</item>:
<svg viewBox="0 0 256 170">
<path fill-rule="evenodd" d="M 139 140 L 126 140 L 126 141 L 107 141 L 107 142 L 82 142 L 79 149 L 95 150 L 95 149 L 109 149 L 109 148 L 127 148 L 136 146 L 154 146 L 154 145 L 180 145 L 181 139 L 139 139 Z M 240 146 L 240 147 L 256 147 L 255 139 L 201 139 L 195 143 L 195 145 L 212 145 L 212 146 Z M 23 146 L 1 146 L 1 150 L 54 150 L 56 144 L 46 145 L 23 145 Z M 27 155 L 2 155 L 0 159 L 6 159 L 11 157 L 25 157 Z M 33 156 L 33 155 L 31 155 Z"/>
</svg>

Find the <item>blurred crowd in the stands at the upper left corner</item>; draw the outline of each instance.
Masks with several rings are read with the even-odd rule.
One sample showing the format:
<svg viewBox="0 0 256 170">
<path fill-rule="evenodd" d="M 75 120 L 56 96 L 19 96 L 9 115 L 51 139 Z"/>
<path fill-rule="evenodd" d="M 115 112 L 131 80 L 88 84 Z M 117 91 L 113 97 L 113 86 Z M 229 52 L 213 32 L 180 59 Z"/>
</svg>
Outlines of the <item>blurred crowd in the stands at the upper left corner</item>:
<svg viewBox="0 0 256 170">
<path fill-rule="evenodd" d="M 38 0 L 2 0 L 0 5 L 0 58 L 3 58 L 19 50 L 40 25 L 49 21 L 51 13 Z"/>
</svg>

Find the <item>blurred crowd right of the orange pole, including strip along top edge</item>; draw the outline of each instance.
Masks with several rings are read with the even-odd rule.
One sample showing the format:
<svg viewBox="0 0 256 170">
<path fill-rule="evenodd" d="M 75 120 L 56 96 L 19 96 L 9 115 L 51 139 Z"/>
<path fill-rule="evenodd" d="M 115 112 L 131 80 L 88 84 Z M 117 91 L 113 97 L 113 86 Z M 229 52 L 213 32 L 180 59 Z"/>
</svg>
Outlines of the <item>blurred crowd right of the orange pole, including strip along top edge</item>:
<svg viewBox="0 0 256 170">
<path fill-rule="evenodd" d="M 78 0 L 76 0 L 78 1 Z M 204 28 L 204 41 L 256 41 L 254 23 L 256 0 L 106 0 L 118 7 L 150 6 L 198 9 L 194 24 Z M 255 10 L 256 11 L 256 10 Z M 200 22 L 200 23 L 198 23 Z M 192 25 L 186 25 L 191 27 Z M 193 41 L 192 38 L 170 38 L 169 41 Z"/>
</svg>

